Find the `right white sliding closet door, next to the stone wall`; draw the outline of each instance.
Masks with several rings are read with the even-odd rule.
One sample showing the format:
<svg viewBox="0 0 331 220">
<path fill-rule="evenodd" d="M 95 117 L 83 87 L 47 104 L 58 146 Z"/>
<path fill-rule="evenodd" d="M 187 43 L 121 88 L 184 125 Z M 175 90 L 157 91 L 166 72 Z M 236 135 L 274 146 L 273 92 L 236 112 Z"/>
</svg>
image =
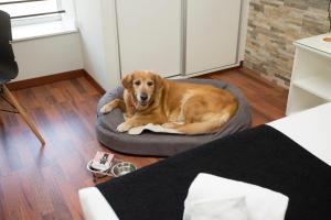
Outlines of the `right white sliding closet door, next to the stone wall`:
<svg viewBox="0 0 331 220">
<path fill-rule="evenodd" d="M 241 0 L 186 0 L 186 73 L 237 63 Z"/>
</svg>

